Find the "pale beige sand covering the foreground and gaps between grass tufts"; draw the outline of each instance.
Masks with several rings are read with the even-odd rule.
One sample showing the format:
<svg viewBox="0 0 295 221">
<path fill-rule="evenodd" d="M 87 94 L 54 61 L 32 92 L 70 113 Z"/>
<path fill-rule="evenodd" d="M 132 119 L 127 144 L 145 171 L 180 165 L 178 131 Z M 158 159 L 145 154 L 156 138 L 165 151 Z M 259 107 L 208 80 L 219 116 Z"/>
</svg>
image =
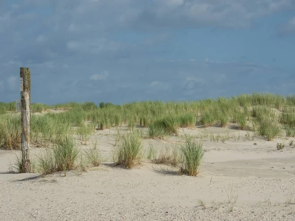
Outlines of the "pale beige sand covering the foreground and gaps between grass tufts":
<svg viewBox="0 0 295 221">
<path fill-rule="evenodd" d="M 122 128 L 121 130 L 125 130 Z M 292 138 L 247 138 L 246 132 L 212 127 L 180 134 L 234 136 L 204 141 L 205 160 L 198 177 L 145 161 L 131 170 L 105 163 L 83 172 L 8 173 L 16 151 L 0 150 L 0 221 L 294 221 L 295 148 Z M 114 144 L 115 129 L 96 131 L 102 153 Z M 167 141 L 145 139 L 162 149 Z M 276 143 L 285 149 L 277 150 Z M 257 145 L 254 145 L 257 143 Z M 31 155 L 40 151 L 31 148 Z M 202 206 L 202 205 L 203 206 Z"/>
</svg>

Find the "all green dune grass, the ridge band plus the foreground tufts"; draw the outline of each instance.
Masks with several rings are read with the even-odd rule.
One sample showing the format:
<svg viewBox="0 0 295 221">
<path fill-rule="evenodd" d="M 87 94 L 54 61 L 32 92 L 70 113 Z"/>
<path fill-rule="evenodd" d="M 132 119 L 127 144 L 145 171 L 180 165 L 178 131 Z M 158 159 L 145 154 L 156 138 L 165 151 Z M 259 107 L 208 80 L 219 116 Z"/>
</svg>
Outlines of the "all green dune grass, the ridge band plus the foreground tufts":
<svg viewBox="0 0 295 221">
<path fill-rule="evenodd" d="M 67 171 L 77 166 L 82 158 L 86 164 L 100 165 L 99 151 L 81 153 L 73 145 L 72 136 L 77 135 L 87 144 L 95 130 L 118 126 L 126 126 L 128 132 L 116 138 L 118 146 L 113 151 L 114 162 L 127 168 L 140 163 L 143 157 L 141 138 L 180 136 L 180 128 L 228 126 L 246 130 L 247 133 L 252 131 L 267 140 L 273 140 L 283 132 L 287 137 L 295 137 L 294 95 L 283 97 L 253 93 L 215 100 L 145 101 L 121 106 L 104 102 L 98 106 L 93 102 L 69 102 L 53 106 L 32 103 L 31 112 L 31 143 L 46 147 L 36 160 L 36 168 L 41 174 Z M 139 127 L 143 129 L 138 130 Z M 200 136 L 217 142 L 232 138 L 229 135 Z M 158 156 L 156 149 L 149 147 L 146 157 L 154 163 L 181 166 L 182 173 L 196 175 L 200 165 L 196 163 L 196 157 L 202 156 L 202 145 L 192 138 L 186 139 L 181 145 L 177 151 L 175 148 L 166 149 Z M 0 147 L 20 150 L 21 114 L 16 113 L 15 102 L 0 103 Z"/>
</svg>

